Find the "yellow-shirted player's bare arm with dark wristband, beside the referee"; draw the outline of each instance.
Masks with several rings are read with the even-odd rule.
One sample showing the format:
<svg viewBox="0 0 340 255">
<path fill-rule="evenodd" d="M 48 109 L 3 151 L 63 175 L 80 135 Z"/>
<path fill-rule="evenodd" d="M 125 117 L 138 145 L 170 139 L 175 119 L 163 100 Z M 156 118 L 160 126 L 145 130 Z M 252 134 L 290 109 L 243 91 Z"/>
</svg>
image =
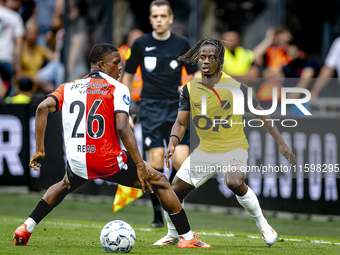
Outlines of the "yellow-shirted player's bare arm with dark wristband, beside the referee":
<svg viewBox="0 0 340 255">
<path fill-rule="evenodd" d="M 189 120 L 190 111 L 179 111 L 175 124 L 172 126 L 169 138 L 169 145 L 165 152 L 166 167 L 171 170 L 170 158 L 175 152 L 175 147 L 182 140 L 187 122 Z"/>
</svg>

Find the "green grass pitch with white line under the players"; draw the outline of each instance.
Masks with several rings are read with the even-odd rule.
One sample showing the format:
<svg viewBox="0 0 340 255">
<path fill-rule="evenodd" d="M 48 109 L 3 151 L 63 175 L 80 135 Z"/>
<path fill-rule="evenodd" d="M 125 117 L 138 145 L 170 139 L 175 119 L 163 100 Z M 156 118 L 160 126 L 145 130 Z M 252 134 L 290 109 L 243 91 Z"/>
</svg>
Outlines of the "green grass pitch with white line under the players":
<svg viewBox="0 0 340 255">
<path fill-rule="evenodd" d="M 39 201 L 38 195 L 0 193 L 0 254 L 107 254 L 101 247 L 101 228 L 119 219 L 131 224 L 136 245 L 130 254 L 340 254 L 340 222 L 268 218 L 279 240 L 267 247 L 249 217 L 187 211 L 191 227 L 211 250 L 156 247 L 166 228 L 151 229 L 152 209 L 128 205 L 117 213 L 107 202 L 65 200 L 35 229 L 27 247 L 12 243 L 14 230 Z"/>
</svg>

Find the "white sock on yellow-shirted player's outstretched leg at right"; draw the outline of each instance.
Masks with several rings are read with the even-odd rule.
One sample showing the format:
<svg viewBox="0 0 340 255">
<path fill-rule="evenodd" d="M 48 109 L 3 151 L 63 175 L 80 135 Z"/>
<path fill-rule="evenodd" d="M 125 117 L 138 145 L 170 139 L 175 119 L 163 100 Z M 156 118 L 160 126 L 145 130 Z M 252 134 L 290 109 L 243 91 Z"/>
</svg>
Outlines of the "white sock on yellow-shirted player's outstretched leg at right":
<svg viewBox="0 0 340 255">
<path fill-rule="evenodd" d="M 236 198 L 240 205 L 242 205 L 244 209 L 246 209 L 255 219 L 257 227 L 268 224 L 267 220 L 262 214 L 259 201 L 257 200 L 257 197 L 254 191 L 251 190 L 251 188 L 248 187 L 248 191 L 244 196 L 241 197 L 236 195 Z"/>
</svg>

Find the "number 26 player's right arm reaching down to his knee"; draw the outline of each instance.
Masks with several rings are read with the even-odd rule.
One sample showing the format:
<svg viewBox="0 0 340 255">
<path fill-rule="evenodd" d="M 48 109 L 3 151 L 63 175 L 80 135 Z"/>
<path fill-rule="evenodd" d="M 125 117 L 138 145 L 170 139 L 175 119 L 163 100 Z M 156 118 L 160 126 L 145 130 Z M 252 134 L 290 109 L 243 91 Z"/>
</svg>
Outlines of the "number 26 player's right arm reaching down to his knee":
<svg viewBox="0 0 340 255">
<path fill-rule="evenodd" d="M 148 188 L 149 191 L 153 193 L 150 183 L 150 174 L 147 171 L 142 156 L 139 153 L 136 138 L 129 125 L 129 117 L 125 113 L 116 113 L 115 118 L 119 137 L 130 154 L 133 162 L 135 162 L 137 166 L 137 174 L 142 185 L 143 192 L 145 193 L 145 188 Z"/>
</svg>

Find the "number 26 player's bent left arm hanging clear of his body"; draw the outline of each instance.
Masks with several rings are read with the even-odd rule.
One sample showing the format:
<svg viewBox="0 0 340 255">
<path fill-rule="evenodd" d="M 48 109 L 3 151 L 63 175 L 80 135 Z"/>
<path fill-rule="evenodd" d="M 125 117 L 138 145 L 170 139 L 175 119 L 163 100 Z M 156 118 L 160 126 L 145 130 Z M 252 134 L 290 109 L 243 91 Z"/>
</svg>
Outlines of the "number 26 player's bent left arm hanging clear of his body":
<svg viewBox="0 0 340 255">
<path fill-rule="evenodd" d="M 35 153 L 30 159 L 30 167 L 34 170 L 39 170 L 40 161 L 45 157 L 44 136 L 47 124 L 47 115 L 50 112 L 56 111 L 56 101 L 48 97 L 42 101 L 35 113 L 35 140 L 36 149 Z"/>
</svg>

